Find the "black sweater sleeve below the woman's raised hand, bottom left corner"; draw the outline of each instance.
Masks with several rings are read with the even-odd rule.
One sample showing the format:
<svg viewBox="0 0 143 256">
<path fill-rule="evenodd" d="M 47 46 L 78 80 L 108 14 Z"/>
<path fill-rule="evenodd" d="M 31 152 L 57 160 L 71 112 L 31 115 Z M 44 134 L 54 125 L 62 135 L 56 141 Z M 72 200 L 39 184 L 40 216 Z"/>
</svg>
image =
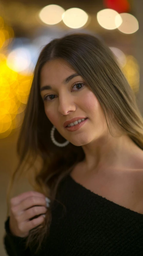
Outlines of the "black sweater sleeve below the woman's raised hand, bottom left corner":
<svg viewBox="0 0 143 256">
<path fill-rule="evenodd" d="M 10 233 L 9 219 L 5 221 L 5 235 L 4 235 L 4 247 L 9 256 L 30 256 L 30 249 L 25 249 L 26 239 L 19 236 L 14 236 Z"/>
</svg>

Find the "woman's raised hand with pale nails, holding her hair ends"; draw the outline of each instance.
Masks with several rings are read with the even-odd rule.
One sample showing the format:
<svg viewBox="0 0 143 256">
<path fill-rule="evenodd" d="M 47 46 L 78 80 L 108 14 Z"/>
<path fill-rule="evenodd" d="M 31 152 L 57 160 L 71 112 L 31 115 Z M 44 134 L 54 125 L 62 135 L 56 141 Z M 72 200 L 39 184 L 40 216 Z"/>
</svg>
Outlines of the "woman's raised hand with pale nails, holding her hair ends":
<svg viewBox="0 0 143 256">
<path fill-rule="evenodd" d="M 31 229 L 44 221 L 49 203 L 50 199 L 36 191 L 13 197 L 10 200 L 10 232 L 14 236 L 27 237 Z M 36 215 L 40 216 L 34 218 Z"/>
</svg>

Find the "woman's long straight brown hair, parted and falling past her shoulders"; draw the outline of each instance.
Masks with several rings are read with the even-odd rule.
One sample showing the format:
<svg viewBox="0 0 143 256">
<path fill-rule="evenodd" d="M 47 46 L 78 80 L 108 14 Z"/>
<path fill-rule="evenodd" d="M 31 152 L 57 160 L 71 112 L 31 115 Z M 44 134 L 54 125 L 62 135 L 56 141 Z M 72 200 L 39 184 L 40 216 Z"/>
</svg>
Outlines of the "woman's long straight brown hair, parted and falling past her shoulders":
<svg viewBox="0 0 143 256">
<path fill-rule="evenodd" d="M 11 178 L 7 207 L 13 181 L 17 174 L 23 173 L 25 166 L 28 173 L 32 170 L 35 175 L 30 179 L 34 189 L 49 197 L 52 204 L 60 181 L 78 162 L 84 160 L 85 154 L 81 146 L 69 143 L 66 147 L 59 148 L 50 139 L 53 124 L 44 112 L 44 103 L 40 96 L 40 71 L 46 62 L 58 58 L 67 61 L 84 78 L 98 99 L 106 122 L 107 119 L 111 122 L 113 117 L 122 133 L 127 134 L 143 149 L 143 118 L 137 107 L 136 96 L 110 48 L 95 36 L 84 33 L 54 39 L 41 51 L 34 70 L 17 144 L 19 165 Z M 111 133 L 108 122 L 107 127 Z M 57 130 L 55 139 L 61 143 L 65 141 Z M 39 168 L 36 169 L 37 163 Z M 27 246 L 31 246 L 35 239 L 38 248 L 40 247 L 49 234 L 51 219 L 49 208 L 43 224 L 30 230 Z"/>
</svg>

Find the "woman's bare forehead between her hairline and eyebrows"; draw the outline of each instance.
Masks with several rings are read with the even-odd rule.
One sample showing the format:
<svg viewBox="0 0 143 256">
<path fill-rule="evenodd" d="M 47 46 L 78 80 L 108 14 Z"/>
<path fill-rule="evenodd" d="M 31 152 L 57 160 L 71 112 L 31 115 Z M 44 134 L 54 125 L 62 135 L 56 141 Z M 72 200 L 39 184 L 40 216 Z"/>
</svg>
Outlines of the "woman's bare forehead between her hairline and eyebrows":
<svg viewBox="0 0 143 256">
<path fill-rule="evenodd" d="M 40 86 L 45 83 L 56 84 L 73 73 L 75 70 L 63 59 L 46 62 L 41 69 Z"/>
</svg>

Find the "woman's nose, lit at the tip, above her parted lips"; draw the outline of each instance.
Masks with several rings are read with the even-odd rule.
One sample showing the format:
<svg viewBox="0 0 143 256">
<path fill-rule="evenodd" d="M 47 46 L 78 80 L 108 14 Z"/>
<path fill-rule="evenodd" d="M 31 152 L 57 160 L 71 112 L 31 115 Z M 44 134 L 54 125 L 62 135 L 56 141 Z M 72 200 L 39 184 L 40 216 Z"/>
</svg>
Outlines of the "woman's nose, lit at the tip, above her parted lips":
<svg viewBox="0 0 143 256">
<path fill-rule="evenodd" d="M 76 104 L 73 100 L 73 96 L 69 96 L 67 93 L 59 96 L 59 107 L 58 111 L 62 115 L 67 115 L 69 111 L 75 111 Z"/>
</svg>

